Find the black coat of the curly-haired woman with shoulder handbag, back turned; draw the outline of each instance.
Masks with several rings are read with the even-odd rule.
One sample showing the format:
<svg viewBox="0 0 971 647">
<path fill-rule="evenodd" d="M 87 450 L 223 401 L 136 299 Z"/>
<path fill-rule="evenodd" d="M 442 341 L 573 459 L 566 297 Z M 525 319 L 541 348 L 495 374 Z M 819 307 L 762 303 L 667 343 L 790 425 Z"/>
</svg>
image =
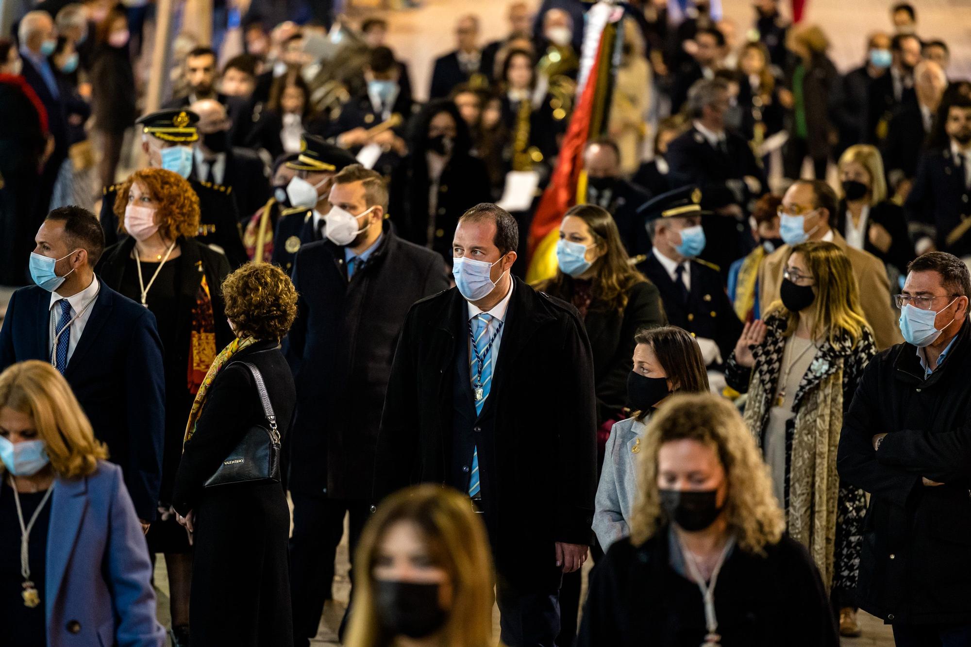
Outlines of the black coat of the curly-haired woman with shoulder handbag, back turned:
<svg viewBox="0 0 971 647">
<path fill-rule="evenodd" d="M 195 433 L 185 443 L 173 501 L 195 513 L 192 644 L 291 647 L 286 545 L 290 515 L 280 483 L 203 484 L 253 425 L 265 425 L 255 383 L 259 368 L 286 443 L 296 393 L 277 342 L 240 351 L 213 381 Z"/>
</svg>

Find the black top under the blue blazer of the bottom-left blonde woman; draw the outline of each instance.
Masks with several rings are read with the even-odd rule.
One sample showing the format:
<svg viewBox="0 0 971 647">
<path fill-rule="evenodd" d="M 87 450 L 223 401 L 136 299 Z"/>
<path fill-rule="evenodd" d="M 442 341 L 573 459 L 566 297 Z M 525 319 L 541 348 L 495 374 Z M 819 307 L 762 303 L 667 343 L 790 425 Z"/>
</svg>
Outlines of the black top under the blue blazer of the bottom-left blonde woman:
<svg viewBox="0 0 971 647">
<path fill-rule="evenodd" d="M 30 518 L 47 491 L 19 493 L 23 523 Z M 0 483 L 0 627 L 3 628 L 4 647 L 37 647 L 47 644 L 47 621 L 44 618 L 44 578 L 47 570 L 48 526 L 50 501 L 44 504 L 30 531 L 27 562 L 30 580 L 34 583 L 41 603 L 30 608 L 23 604 L 23 576 L 20 574 L 20 523 L 14 491 L 6 478 Z"/>
</svg>

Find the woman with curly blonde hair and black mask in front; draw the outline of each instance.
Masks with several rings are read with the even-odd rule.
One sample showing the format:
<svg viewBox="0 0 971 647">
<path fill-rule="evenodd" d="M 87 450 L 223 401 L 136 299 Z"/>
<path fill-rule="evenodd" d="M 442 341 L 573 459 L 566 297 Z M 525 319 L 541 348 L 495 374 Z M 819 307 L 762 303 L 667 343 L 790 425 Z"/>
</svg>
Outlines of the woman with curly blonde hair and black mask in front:
<svg viewBox="0 0 971 647">
<path fill-rule="evenodd" d="M 578 644 L 836 647 L 820 572 L 783 534 L 731 403 L 672 397 L 645 438 L 631 537 L 597 564 Z"/>
</svg>

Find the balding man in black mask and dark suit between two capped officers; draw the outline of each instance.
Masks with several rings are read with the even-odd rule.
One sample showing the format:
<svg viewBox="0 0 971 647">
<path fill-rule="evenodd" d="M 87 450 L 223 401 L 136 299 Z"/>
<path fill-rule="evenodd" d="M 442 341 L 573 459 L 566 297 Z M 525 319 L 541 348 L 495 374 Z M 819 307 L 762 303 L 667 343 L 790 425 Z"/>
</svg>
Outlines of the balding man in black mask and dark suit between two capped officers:
<svg viewBox="0 0 971 647">
<path fill-rule="evenodd" d="M 199 116 L 195 179 L 231 189 L 236 212 L 245 224 L 270 199 L 269 169 L 250 149 L 229 145 L 231 122 L 226 107 L 216 99 L 196 101 L 191 110 Z"/>
</svg>

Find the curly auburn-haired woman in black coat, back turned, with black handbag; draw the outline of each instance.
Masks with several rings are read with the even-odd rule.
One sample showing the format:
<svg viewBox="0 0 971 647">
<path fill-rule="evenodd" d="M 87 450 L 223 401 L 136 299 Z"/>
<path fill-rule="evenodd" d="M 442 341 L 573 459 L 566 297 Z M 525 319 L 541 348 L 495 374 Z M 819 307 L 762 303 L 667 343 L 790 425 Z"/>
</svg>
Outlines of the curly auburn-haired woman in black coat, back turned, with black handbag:
<svg viewBox="0 0 971 647">
<path fill-rule="evenodd" d="M 207 482 L 223 464 L 245 461 L 228 457 L 254 427 L 285 438 L 296 394 L 280 341 L 296 317 L 297 292 L 278 266 L 247 263 L 222 283 L 222 297 L 236 339 L 196 393 L 172 494 L 194 542 L 191 644 L 291 647 L 290 515 L 279 476 Z"/>
</svg>

